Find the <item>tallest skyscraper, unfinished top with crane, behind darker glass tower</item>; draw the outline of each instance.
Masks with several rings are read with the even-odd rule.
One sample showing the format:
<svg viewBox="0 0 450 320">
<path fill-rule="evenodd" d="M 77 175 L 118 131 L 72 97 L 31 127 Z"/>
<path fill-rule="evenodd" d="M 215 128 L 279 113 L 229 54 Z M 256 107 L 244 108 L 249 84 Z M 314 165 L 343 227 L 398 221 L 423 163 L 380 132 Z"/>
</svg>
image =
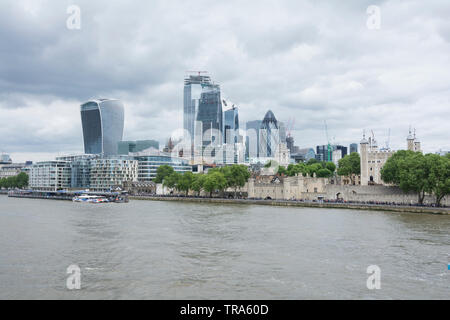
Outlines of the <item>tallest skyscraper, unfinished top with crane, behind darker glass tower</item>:
<svg viewBox="0 0 450 320">
<path fill-rule="evenodd" d="M 209 76 L 190 75 L 184 79 L 183 128 L 189 133 L 191 140 L 194 139 L 201 94 L 204 88 L 210 88 L 212 85 Z"/>
</svg>

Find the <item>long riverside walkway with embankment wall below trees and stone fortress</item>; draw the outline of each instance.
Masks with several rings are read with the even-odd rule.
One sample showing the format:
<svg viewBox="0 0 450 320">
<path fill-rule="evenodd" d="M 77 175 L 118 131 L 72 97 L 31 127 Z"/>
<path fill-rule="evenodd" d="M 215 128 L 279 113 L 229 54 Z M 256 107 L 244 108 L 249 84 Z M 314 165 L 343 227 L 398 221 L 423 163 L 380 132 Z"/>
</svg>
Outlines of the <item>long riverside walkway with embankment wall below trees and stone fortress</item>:
<svg viewBox="0 0 450 320">
<path fill-rule="evenodd" d="M 183 197 L 183 196 L 130 196 L 134 200 L 152 201 L 186 201 L 203 203 L 222 204 L 256 204 L 269 206 L 288 207 L 311 207 L 311 208 L 336 208 L 336 209 L 357 209 L 357 210 L 378 210 L 395 212 L 415 212 L 450 215 L 448 207 L 429 207 L 403 204 L 377 204 L 377 203 L 350 203 L 350 202 L 313 202 L 301 200 L 262 200 L 262 199 L 226 199 L 226 198 L 203 198 L 203 197 Z"/>
</svg>

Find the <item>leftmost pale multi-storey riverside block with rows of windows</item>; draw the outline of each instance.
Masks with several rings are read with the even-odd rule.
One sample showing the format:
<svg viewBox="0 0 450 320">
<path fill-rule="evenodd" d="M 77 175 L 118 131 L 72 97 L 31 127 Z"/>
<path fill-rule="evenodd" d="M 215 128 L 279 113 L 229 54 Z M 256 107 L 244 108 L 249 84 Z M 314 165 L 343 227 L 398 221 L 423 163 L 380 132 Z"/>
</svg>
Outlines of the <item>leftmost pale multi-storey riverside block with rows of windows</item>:
<svg viewBox="0 0 450 320">
<path fill-rule="evenodd" d="M 69 161 L 53 160 L 38 162 L 31 166 L 29 186 L 31 189 L 58 191 L 70 188 L 71 169 Z"/>
</svg>

